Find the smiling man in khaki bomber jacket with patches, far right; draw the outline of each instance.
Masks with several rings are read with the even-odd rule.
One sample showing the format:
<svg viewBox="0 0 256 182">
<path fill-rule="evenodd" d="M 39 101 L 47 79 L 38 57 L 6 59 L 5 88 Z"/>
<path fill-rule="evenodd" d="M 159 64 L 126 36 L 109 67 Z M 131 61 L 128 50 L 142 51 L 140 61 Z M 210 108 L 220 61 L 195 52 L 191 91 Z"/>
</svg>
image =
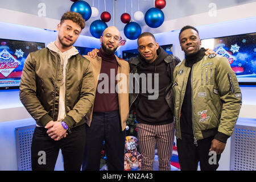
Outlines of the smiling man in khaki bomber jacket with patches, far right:
<svg viewBox="0 0 256 182">
<path fill-rule="evenodd" d="M 205 56 L 195 27 L 181 29 L 185 60 L 174 70 L 175 129 L 181 170 L 216 170 L 242 104 L 236 74 L 220 55 Z"/>
</svg>

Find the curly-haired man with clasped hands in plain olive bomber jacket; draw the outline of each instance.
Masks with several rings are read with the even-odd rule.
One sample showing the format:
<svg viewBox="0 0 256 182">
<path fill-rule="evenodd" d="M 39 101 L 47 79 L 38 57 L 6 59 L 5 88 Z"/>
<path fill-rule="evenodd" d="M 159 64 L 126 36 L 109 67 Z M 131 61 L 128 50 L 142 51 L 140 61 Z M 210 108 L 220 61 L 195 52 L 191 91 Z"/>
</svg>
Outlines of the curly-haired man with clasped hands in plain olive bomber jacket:
<svg viewBox="0 0 256 182">
<path fill-rule="evenodd" d="M 63 14 L 57 39 L 28 55 L 20 80 L 20 100 L 36 121 L 32 170 L 54 170 L 59 150 L 64 170 L 80 170 L 85 148 L 85 115 L 94 102 L 90 62 L 73 44 L 85 20 Z"/>
</svg>

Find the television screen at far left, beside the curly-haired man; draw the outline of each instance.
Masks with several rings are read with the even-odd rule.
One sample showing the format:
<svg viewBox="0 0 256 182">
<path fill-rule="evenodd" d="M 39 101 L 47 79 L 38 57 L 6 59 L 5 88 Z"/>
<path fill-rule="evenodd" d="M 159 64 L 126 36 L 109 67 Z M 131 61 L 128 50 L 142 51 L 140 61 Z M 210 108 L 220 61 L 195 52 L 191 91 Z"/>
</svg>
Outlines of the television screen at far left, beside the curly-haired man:
<svg viewBox="0 0 256 182">
<path fill-rule="evenodd" d="M 28 54 L 44 48 L 45 44 L 10 39 L 0 39 L 0 43 L 0 89 L 19 88 Z"/>
</svg>

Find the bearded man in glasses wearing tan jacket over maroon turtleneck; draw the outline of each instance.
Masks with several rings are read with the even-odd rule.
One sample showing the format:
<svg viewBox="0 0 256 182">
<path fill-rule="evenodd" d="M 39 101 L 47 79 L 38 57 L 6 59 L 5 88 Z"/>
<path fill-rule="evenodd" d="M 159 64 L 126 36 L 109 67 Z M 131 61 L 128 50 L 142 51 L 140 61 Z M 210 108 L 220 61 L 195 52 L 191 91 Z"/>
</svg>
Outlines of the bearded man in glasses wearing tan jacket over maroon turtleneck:
<svg viewBox="0 0 256 182">
<path fill-rule="evenodd" d="M 85 56 L 92 64 L 96 97 L 86 115 L 86 142 L 82 170 L 98 171 L 102 145 L 109 171 L 123 171 L 125 127 L 129 114 L 129 64 L 114 55 L 120 33 L 116 27 L 104 30 L 97 56 Z"/>
</svg>

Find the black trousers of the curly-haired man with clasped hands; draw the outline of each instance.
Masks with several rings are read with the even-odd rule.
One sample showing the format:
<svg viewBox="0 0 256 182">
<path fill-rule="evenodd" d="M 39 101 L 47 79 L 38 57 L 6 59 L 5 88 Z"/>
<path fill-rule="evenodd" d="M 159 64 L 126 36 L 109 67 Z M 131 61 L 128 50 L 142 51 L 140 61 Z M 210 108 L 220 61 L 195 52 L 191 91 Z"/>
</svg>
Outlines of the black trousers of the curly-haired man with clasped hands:
<svg viewBox="0 0 256 182">
<path fill-rule="evenodd" d="M 80 171 L 85 147 L 85 124 L 71 129 L 66 138 L 51 139 L 44 127 L 36 127 L 31 144 L 31 167 L 53 171 L 61 149 L 65 171 Z"/>
</svg>

